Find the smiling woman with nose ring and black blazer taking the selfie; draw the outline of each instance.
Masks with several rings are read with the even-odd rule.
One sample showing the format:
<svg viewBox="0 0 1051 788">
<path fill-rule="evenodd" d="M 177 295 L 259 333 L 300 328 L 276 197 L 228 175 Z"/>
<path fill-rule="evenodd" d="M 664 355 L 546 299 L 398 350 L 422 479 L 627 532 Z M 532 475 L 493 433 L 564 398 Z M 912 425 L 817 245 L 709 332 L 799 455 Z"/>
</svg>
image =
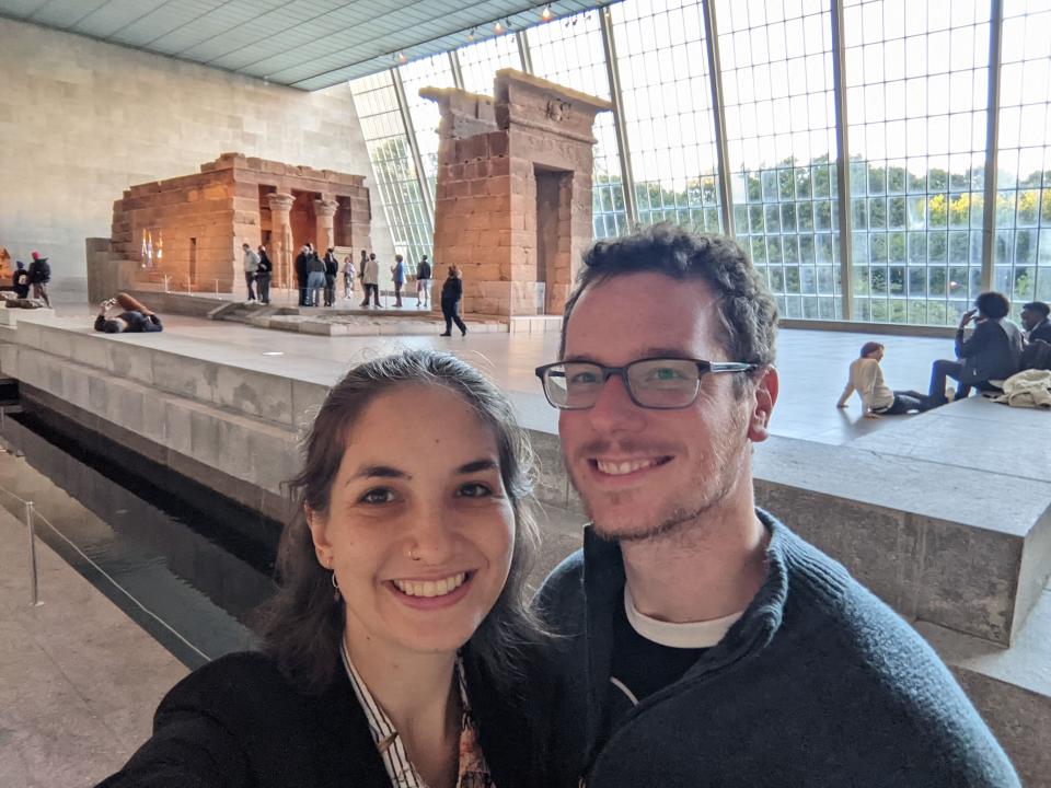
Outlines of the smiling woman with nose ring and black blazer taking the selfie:
<svg viewBox="0 0 1051 788">
<path fill-rule="evenodd" d="M 291 483 L 263 651 L 176 685 L 103 785 L 542 785 L 519 710 L 529 466 L 507 399 L 464 362 L 351 370 Z"/>
</svg>

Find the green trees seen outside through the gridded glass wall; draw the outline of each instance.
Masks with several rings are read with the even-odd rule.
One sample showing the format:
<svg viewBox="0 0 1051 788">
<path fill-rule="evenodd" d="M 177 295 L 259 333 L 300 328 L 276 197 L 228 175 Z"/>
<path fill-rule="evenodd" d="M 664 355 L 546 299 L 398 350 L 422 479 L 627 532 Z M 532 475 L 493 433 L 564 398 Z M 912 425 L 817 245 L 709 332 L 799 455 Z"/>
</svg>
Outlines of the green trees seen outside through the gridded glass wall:
<svg viewBox="0 0 1051 788">
<path fill-rule="evenodd" d="M 737 237 L 784 313 L 835 317 L 835 163 L 827 155 L 806 163 L 789 158 L 735 178 Z M 859 320 L 932 325 L 959 320 L 980 287 L 984 181 L 981 167 L 916 173 L 897 164 L 851 161 L 851 245 Z M 1002 175 L 1000 181 L 1009 178 Z M 1051 250 L 1039 248 L 1041 234 L 1044 246 L 1051 235 L 1051 187 L 1044 184 L 1051 184 L 1051 171 L 1018 178 L 1016 188 L 996 196 L 997 268 L 1003 267 L 1005 276 L 1014 271 L 1013 281 L 997 280 L 997 286 L 1016 301 L 1035 298 L 1038 256 L 1051 258 Z M 596 193 L 603 187 L 622 194 L 616 176 L 598 176 Z M 713 176 L 688 181 L 682 189 L 636 184 L 635 192 L 643 223 L 669 220 L 719 231 Z M 599 206 L 597 197 L 597 227 Z M 602 210 L 623 211 L 623 202 L 602 204 Z M 1042 282 L 1051 280 L 1051 270 L 1040 270 Z"/>
</svg>

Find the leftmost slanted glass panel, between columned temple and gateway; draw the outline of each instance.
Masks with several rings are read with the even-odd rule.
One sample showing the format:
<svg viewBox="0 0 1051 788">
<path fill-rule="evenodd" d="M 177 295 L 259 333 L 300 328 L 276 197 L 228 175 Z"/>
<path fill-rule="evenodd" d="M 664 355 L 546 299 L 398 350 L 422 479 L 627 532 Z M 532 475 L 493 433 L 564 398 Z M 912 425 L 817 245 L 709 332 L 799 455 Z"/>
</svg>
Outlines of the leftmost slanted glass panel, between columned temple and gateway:
<svg viewBox="0 0 1051 788">
<path fill-rule="evenodd" d="M 355 80 L 350 89 L 376 173 L 372 197 L 377 197 L 378 189 L 394 251 L 406 259 L 418 260 L 431 253 L 434 239 L 392 72 L 362 77 Z"/>
</svg>

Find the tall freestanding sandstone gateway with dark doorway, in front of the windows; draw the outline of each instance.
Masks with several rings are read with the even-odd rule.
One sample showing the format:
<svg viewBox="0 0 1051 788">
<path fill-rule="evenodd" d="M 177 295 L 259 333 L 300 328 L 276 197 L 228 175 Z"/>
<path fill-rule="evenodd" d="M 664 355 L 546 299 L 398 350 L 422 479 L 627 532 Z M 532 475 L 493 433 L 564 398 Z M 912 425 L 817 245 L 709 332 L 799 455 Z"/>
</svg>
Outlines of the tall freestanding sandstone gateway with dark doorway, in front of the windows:
<svg viewBox="0 0 1051 788">
<path fill-rule="evenodd" d="M 425 89 L 438 103 L 436 288 L 463 275 L 464 312 L 561 313 L 591 243 L 591 125 L 609 104 L 505 69 L 496 99 Z M 538 178 L 557 178 L 551 243 L 538 239 Z M 541 256 L 542 255 L 542 256 Z M 541 289 L 539 286 L 542 286 Z M 541 300 L 541 293 L 545 293 Z"/>
</svg>

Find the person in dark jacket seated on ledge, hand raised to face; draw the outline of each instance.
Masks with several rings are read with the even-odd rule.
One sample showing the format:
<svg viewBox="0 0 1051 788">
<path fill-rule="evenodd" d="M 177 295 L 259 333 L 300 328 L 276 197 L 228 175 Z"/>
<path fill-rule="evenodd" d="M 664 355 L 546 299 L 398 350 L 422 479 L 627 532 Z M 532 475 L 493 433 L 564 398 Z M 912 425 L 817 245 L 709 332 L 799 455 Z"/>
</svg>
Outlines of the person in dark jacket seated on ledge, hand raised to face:
<svg viewBox="0 0 1051 788">
<path fill-rule="evenodd" d="M 1018 371 L 1021 363 L 1021 331 L 1007 320 L 1010 301 L 998 292 L 984 292 L 974 299 L 974 309 L 965 312 L 956 332 L 956 361 L 939 359 L 931 367 L 931 407 L 945 405 L 946 375 L 960 382 L 956 399 L 965 399 L 971 386 L 981 391 L 1000 390 L 990 381 L 1003 381 Z M 967 324 L 974 321 L 974 331 L 965 337 Z"/>
</svg>

